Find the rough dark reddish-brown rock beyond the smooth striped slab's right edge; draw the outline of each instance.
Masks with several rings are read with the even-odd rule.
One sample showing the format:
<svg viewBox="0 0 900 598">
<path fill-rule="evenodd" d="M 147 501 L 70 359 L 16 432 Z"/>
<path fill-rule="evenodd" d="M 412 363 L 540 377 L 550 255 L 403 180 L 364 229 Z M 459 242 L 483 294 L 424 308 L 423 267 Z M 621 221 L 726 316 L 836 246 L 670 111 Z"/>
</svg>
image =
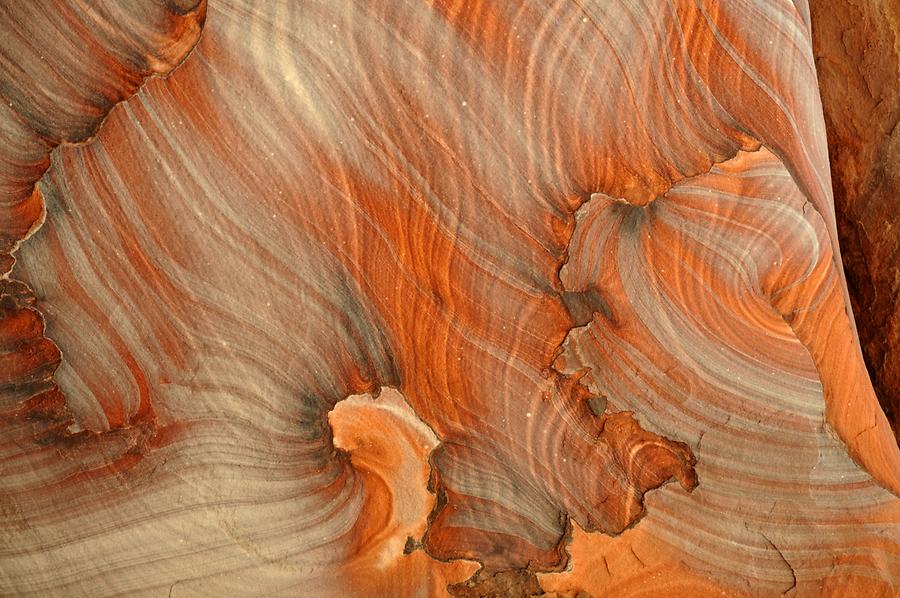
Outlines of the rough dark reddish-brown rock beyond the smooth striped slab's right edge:
<svg viewBox="0 0 900 598">
<path fill-rule="evenodd" d="M 875 392 L 900 438 L 900 8 L 811 8 L 850 299 Z"/>
</svg>

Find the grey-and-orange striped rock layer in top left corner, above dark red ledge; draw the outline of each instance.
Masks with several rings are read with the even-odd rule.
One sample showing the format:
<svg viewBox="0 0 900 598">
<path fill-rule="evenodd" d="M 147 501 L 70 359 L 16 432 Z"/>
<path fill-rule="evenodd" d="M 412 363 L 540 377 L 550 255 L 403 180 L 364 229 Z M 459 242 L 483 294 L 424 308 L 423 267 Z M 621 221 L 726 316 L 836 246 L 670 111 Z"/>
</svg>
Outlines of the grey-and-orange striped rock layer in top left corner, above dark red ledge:
<svg viewBox="0 0 900 598">
<path fill-rule="evenodd" d="M 34 184 L 144 79 L 197 43 L 205 0 L 10 0 L 0 7 L 0 275 L 43 216 Z"/>
</svg>

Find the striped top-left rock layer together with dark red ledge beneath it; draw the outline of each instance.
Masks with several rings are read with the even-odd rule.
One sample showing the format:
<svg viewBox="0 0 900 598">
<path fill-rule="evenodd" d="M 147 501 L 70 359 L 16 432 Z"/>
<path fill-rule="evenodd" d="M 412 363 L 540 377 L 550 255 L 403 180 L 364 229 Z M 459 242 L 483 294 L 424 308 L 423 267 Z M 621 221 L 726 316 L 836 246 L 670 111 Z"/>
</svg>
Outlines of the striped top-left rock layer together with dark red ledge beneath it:
<svg viewBox="0 0 900 598">
<path fill-rule="evenodd" d="M 0 7 L 0 409 L 38 437 L 69 442 L 75 422 L 52 380 L 59 349 L 44 336 L 32 290 L 10 277 L 13 252 L 45 216 L 37 182 L 53 148 L 91 138 L 116 103 L 184 60 L 205 15 L 204 0 Z"/>
</svg>

